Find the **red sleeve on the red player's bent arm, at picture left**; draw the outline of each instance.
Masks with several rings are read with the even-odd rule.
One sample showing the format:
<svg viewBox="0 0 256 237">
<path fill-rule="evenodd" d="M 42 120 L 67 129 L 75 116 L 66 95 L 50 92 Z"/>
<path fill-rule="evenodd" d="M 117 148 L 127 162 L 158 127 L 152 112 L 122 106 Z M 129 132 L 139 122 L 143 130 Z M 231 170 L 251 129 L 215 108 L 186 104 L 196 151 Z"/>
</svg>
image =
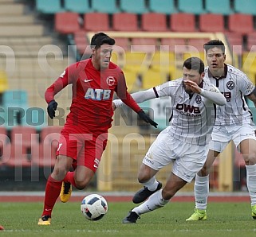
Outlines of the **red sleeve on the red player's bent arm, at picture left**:
<svg viewBox="0 0 256 237">
<path fill-rule="evenodd" d="M 76 72 L 76 66 L 70 65 L 65 69 L 64 72 L 61 73 L 61 76 L 55 80 L 53 84 L 51 84 L 45 91 L 45 101 L 49 103 L 54 99 L 54 95 L 56 95 L 59 91 L 65 88 L 68 84 L 73 83 L 74 73 Z"/>
</svg>

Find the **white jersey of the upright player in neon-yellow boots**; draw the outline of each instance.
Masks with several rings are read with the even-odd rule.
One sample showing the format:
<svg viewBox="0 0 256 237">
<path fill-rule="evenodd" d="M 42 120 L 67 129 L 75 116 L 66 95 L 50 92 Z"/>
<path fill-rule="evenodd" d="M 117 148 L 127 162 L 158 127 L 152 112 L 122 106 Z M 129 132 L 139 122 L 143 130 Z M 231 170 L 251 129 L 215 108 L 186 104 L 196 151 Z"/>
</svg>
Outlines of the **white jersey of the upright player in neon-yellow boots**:
<svg viewBox="0 0 256 237">
<path fill-rule="evenodd" d="M 225 75 L 219 79 L 213 77 L 209 67 L 205 70 L 205 78 L 219 88 L 226 98 L 226 105 L 217 107 L 217 118 L 215 125 L 242 125 L 251 123 L 252 113 L 246 104 L 245 95 L 254 91 L 254 85 L 250 79 L 229 64 L 225 64 Z"/>
</svg>

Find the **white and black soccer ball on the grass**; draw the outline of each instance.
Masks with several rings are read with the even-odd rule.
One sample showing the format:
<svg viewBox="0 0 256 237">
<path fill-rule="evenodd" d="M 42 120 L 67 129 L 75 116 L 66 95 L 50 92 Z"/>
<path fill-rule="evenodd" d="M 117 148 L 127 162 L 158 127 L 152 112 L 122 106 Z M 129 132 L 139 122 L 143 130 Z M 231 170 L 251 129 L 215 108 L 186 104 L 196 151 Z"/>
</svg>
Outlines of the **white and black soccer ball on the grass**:
<svg viewBox="0 0 256 237">
<path fill-rule="evenodd" d="M 90 194 L 82 200 L 81 212 L 88 220 L 100 220 L 108 212 L 108 203 L 103 196 Z"/>
</svg>

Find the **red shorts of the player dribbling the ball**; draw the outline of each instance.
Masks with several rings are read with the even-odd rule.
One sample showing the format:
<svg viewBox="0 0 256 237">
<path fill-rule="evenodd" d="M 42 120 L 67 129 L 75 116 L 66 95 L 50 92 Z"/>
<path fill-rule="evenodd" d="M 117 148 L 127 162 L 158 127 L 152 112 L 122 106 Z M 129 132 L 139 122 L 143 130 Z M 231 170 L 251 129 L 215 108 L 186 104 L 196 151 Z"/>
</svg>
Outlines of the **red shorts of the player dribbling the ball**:
<svg viewBox="0 0 256 237">
<path fill-rule="evenodd" d="M 61 131 L 56 154 L 72 157 L 74 169 L 82 165 L 96 172 L 107 141 L 108 133 L 68 134 Z"/>
</svg>

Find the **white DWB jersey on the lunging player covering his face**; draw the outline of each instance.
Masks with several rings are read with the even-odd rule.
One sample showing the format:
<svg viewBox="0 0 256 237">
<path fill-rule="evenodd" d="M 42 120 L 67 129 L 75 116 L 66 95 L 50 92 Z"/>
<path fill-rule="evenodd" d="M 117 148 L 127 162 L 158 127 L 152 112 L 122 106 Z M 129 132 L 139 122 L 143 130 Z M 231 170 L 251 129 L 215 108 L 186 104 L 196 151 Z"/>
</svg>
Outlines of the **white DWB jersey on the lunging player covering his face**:
<svg viewBox="0 0 256 237">
<path fill-rule="evenodd" d="M 203 80 L 200 87 L 219 92 L 209 80 Z M 156 97 L 171 97 L 171 122 L 166 128 L 171 136 L 196 145 L 205 145 L 211 140 L 216 106 L 210 99 L 197 93 L 187 94 L 182 78 L 154 87 L 154 91 Z"/>
</svg>

